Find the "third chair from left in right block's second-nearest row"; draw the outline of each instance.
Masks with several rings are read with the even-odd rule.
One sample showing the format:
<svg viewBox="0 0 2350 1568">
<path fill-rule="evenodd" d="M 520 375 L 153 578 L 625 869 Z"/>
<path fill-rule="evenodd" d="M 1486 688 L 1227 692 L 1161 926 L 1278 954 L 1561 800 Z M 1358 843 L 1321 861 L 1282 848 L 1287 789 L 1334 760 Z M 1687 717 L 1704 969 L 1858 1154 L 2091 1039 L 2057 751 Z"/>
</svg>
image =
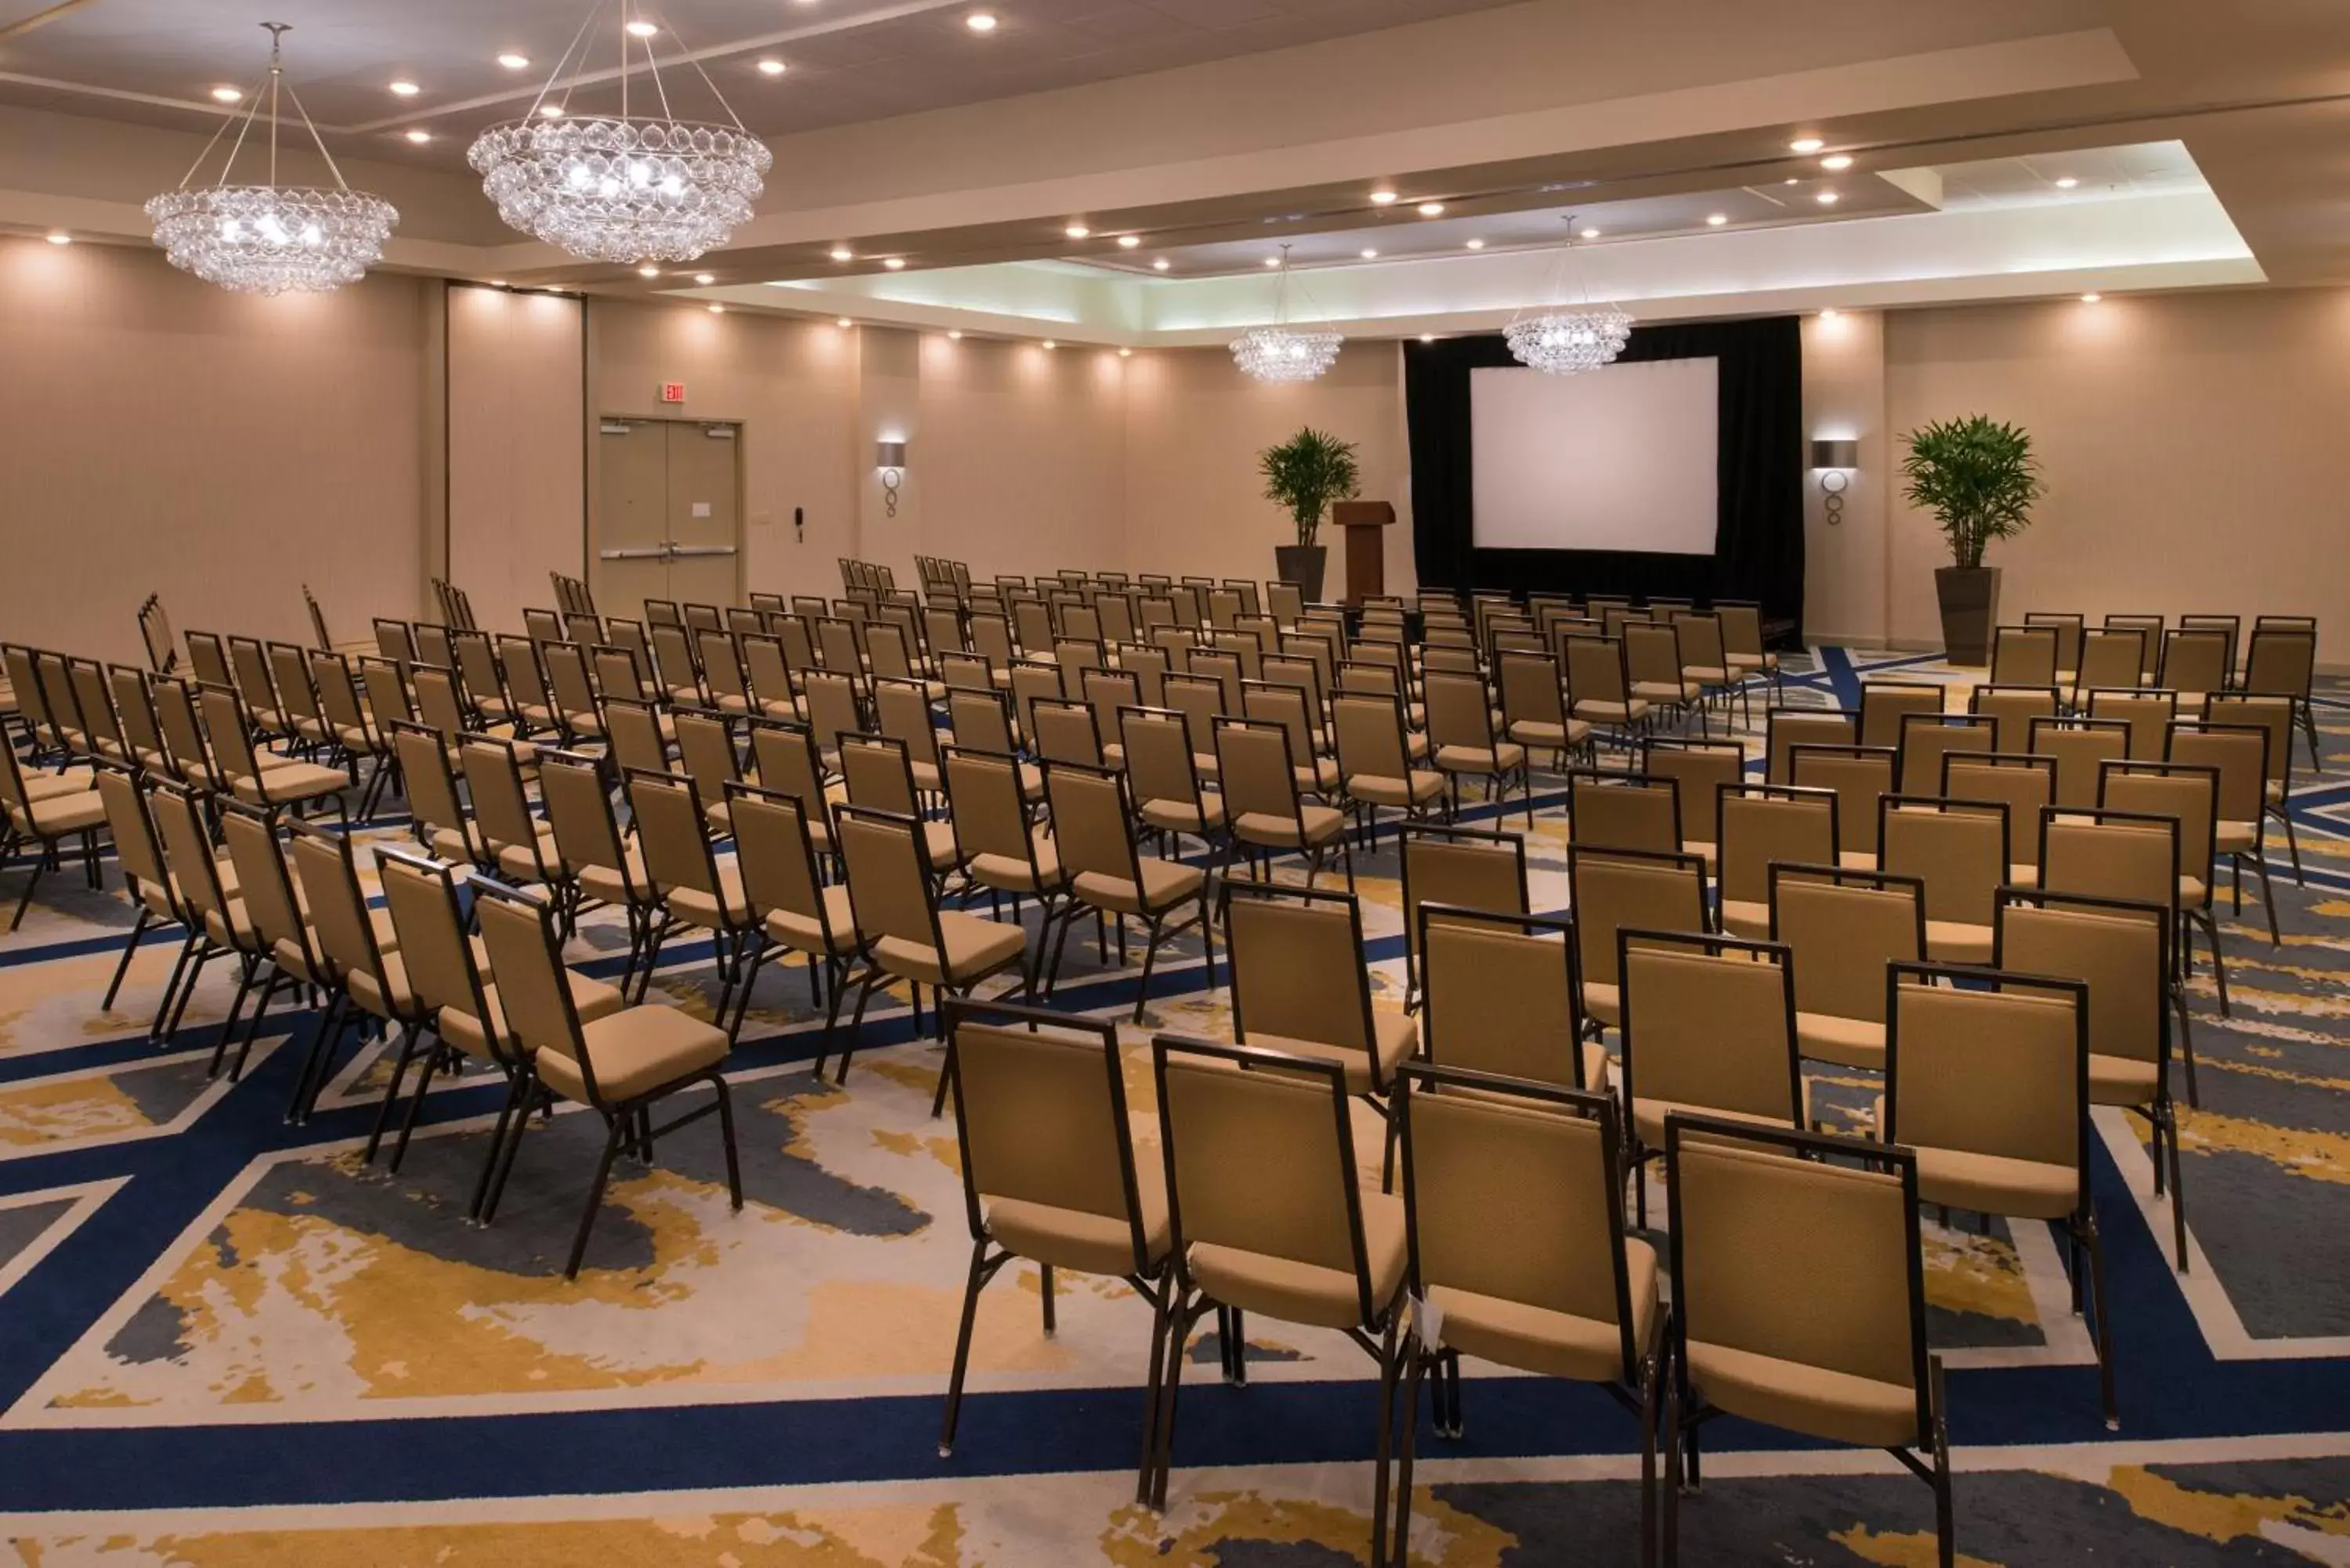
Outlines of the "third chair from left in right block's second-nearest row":
<svg viewBox="0 0 2350 1568">
<path fill-rule="evenodd" d="M 1774 943 L 1678 931 L 1617 931 L 1624 1020 L 1617 1084 L 1631 1138 L 1624 1173 L 1647 1229 L 1645 1166 L 1664 1119 L 1701 1114 L 1802 1131 L 1810 1084 L 1795 1046 L 1793 957 Z"/>
</svg>

